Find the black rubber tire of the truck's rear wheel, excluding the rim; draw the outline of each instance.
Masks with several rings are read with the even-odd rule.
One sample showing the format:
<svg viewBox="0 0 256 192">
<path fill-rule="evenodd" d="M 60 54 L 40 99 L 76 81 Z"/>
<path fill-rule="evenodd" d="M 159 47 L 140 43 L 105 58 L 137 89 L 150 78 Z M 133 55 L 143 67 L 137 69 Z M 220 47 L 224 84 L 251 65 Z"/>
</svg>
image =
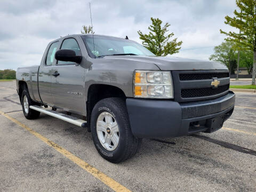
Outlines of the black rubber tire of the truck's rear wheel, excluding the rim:
<svg viewBox="0 0 256 192">
<path fill-rule="evenodd" d="M 26 113 L 25 111 L 25 107 L 24 107 L 24 97 L 27 97 L 27 100 L 28 100 L 28 113 Z M 34 101 L 31 100 L 29 94 L 28 94 L 28 91 L 27 90 L 23 90 L 22 91 L 22 95 L 21 95 L 21 106 L 22 106 L 22 110 L 23 110 L 23 114 L 24 116 L 27 118 L 27 119 L 35 119 L 35 118 L 38 118 L 39 115 L 40 115 L 40 112 L 39 111 L 36 111 L 36 110 L 33 110 L 33 109 L 30 109 L 29 106 L 31 105 L 36 105 L 36 103 Z"/>
</svg>

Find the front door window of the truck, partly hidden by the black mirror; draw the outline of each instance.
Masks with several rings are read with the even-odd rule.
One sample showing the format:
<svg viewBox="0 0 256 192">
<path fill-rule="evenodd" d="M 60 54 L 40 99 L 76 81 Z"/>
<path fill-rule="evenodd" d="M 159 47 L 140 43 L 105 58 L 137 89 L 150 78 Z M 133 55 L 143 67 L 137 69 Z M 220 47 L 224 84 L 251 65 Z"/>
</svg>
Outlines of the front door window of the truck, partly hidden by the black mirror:
<svg viewBox="0 0 256 192">
<path fill-rule="evenodd" d="M 80 47 L 79 47 L 78 43 L 76 42 L 76 39 L 74 39 L 74 38 L 65 39 L 63 41 L 60 49 L 73 50 L 76 52 L 76 55 L 81 55 Z M 65 65 L 65 64 L 71 64 L 71 63 L 74 63 L 74 62 L 58 61 L 58 65 Z"/>
</svg>

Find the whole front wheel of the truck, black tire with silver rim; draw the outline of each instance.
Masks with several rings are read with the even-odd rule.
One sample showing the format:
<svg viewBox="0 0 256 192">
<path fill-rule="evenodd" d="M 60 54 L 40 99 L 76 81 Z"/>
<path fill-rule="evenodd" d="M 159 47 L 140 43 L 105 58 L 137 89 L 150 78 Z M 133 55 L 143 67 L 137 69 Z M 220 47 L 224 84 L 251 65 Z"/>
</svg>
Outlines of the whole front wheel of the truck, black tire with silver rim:
<svg viewBox="0 0 256 192">
<path fill-rule="evenodd" d="M 132 134 L 125 101 L 121 98 L 102 99 L 94 106 L 91 131 L 99 154 L 112 163 L 132 157 L 141 142 Z"/>
</svg>

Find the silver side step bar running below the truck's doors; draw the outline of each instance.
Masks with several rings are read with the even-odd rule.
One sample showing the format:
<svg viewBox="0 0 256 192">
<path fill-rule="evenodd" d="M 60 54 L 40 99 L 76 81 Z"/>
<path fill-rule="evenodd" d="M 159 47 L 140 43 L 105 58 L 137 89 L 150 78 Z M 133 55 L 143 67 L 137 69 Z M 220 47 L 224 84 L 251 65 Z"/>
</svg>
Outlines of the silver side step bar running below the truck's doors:
<svg viewBox="0 0 256 192">
<path fill-rule="evenodd" d="M 61 119 L 61 120 L 66 121 L 68 123 L 72 123 L 72 124 L 77 125 L 77 126 L 81 126 L 81 127 L 86 127 L 87 126 L 86 121 L 84 121 L 82 119 L 79 119 L 77 117 L 73 117 L 71 115 L 58 113 L 57 111 L 53 111 L 51 109 L 45 109 L 45 108 L 39 107 L 39 106 L 29 106 L 29 108 L 34 109 L 36 111 L 39 111 L 39 112 L 41 112 L 43 114 L 46 114 L 46 115 L 56 117 L 58 119 Z"/>
</svg>

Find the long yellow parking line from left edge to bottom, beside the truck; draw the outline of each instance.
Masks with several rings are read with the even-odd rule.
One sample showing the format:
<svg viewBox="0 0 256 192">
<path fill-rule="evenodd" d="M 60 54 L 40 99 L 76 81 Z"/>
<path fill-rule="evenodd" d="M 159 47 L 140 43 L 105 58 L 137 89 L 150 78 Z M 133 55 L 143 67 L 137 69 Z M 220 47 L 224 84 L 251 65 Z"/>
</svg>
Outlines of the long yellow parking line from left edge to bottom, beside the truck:
<svg viewBox="0 0 256 192">
<path fill-rule="evenodd" d="M 74 163 L 76 163 L 77 165 L 82 167 L 85 171 L 92 174 L 95 178 L 97 178 L 100 181 L 102 181 L 103 183 L 105 183 L 108 187 L 110 187 L 114 191 L 130 191 L 129 189 L 122 186 L 120 183 L 116 182 L 114 179 L 108 177 L 108 175 L 100 172 L 99 170 L 97 170 L 92 165 L 84 162 L 81 158 L 71 154 L 68 150 L 60 147 L 57 143 L 54 143 L 53 141 L 50 141 L 49 139 L 45 138 L 43 135 L 35 132 L 34 130 L 31 130 L 27 125 L 22 124 L 18 120 L 10 117 L 9 115 L 4 114 L 2 111 L 0 111 L 0 114 L 5 116 L 6 118 L 10 119 L 12 122 L 16 123 L 17 125 L 23 127 L 24 129 L 29 131 L 31 134 L 34 134 L 38 139 L 42 140 L 43 142 L 45 142 L 50 147 L 57 150 L 63 156 L 69 158 L 71 161 L 73 161 Z"/>
</svg>

